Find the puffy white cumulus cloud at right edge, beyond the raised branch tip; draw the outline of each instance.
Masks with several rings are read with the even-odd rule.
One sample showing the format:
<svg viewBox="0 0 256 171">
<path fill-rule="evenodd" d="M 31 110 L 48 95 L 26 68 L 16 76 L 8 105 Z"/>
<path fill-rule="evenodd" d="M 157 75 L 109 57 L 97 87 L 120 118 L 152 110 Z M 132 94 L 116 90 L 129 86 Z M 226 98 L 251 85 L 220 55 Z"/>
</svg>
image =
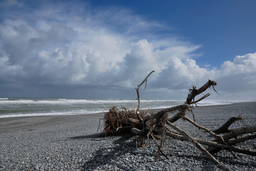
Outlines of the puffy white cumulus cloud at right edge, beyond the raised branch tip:
<svg viewBox="0 0 256 171">
<path fill-rule="evenodd" d="M 232 62 L 225 61 L 217 76 L 223 93 L 237 94 L 255 100 L 256 53 L 236 56 Z"/>
</svg>

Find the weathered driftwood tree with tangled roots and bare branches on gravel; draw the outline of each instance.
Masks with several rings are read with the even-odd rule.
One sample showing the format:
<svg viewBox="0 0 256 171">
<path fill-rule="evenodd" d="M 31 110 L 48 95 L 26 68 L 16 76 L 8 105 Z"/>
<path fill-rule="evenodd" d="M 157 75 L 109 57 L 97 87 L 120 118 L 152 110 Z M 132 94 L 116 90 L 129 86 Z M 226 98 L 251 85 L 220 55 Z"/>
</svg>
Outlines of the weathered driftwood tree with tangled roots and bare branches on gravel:
<svg viewBox="0 0 256 171">
<path fill-rule="evenodd" d="M 154 71 L 150 72 L 148 76 L 146 76 L 146 78 L 141 82 L 141 84 L 139 84 L 138 87 L 135 88 L 138 96 L 137 109 L 133 108 L 132 110 L 129 110 L 126 107 L 117 108 L 114 106 L 109 109 L 109 112 L 105 113 L 105 127 L 103 132 L 101 133 L 101 136 L 130 133 L 139 137 L 140 147 L 144 147 L 145 145 L 147 145 L 145 139 L 150 136 L 154 139 L 158 146 L 156 161 L 158 160 L 160 153 L 167 157 L 167 155 L 165 155 L 164 152 L 161 150 L 164 146 L 165 136 L 169 136 L 171 138 L 181 141 L 188 141 L 195 145 L 201 152 L 203 152 L 203 154 L 208 157 L 210 161 L 212 161 L 219 169 L 223 171 L 228 171 L 228 169 L 213 156 L 213 154 L 216 152 L 226 150 L 229 151 L 234 156 L 234 158 L 237 158 L 235 152 L 256 156 L 255 150 L 249 148 L 243 149 L 235 146 L 239 142 L 255 139 L 256 125 L 237 129 L 228 128 L 235 121 L 242 120 L 243 118 L 241 116 L 230 118 L 220 128 L 214 131 L 208 130 L 207 128 L 195 122 L 195 116 L 192 112 L 194 106 L 192 106 L 191 104 L 197 105 L 197 102 L 209 96 L 210 94 L 207 93 L 206 95 L 203 95 L 201 98 L 195 101 L 195 97 L 197 95 L 202 94 L 210 87 L 212 87 L 217 93 L 214 88 L 214 86 L 217 85 L 215 81 L 208 80 L 207 83 L 199 89 L 197 89 L 197 87 L 193 85 L 193 88 L 189 89 L 189 94 L 187 95 L 187 99 L 184 104 L 163 109 L 156 114 L 150 113 L 149 110 L 140 111 L 141 102 L 139 88 L 145 82 L 146 88 L 148 77 L 153 72 Z M 187 111 L 193 114 L 194 121 L 187 118 L 187 116 L 185 115 Z M 173 113 L 174 116 L 169 117 L 167 113 Z M 179 119 L 186 120 L 189 123 L 195 125 L 195 127 L 204 130 L 206 133 L 209 133 L 211 136 L 215 137 L 215 140 L 207 141 L 191 137 L 187 132 L 173 124 Z M 176 132 L 171 130 L 175 130 Z M 220 135 L 220 133 L 222 133 L 222 135 Z M 241 137 L 241 135 L 243 136 Z M 157 139 L 161 139 L 160 144 L 158 144 Z M 202 145 L 207 145 L 208 147 L 212 148 L 212 150 L 208 151 Z"/>
</svg>

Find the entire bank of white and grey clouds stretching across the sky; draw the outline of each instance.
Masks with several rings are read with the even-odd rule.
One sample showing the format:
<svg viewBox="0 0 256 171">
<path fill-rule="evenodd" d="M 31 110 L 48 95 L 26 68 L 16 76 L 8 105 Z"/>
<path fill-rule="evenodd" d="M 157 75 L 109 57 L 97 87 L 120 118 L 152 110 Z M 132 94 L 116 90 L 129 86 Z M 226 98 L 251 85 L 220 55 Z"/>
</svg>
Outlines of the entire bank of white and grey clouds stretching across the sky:
<svg viewBox="0 0 256 171">
<path fill-rule="evenodd" d="M 0 22 L 0 81 L 5 88 L 29 84 L 56 89 L 84 87 L 93 92 L 100 87 L 113 93 L 113 87 L 115 91 L 134 89 L 152 70 L 156 72 L 150 77 L 148 92 L 184 92 L 208 79 L 216 80 L 220 91 L 256 88 L 256 53 L 236 56 L 219 69 L 204 68 L 196 61 L 201 54 L 195 51 L 201 45 L 175 37 L 160 40 L 152 36 L 149 40 L 150 31 L 165 26 L 127 9 L 91 11 L 84 7 L 72 6 L 66 12 L 65 7 L 49 6 L 26 10 L 22 16 L 4 14 Z"/>
</svg>

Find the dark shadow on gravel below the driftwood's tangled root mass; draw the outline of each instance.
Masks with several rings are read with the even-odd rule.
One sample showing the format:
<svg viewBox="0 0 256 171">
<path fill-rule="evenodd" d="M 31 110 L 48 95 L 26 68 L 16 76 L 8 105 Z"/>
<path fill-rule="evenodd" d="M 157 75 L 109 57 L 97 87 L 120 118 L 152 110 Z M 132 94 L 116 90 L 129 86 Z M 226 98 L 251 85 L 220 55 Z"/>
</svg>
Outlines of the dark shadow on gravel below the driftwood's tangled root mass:
<svg viewBox="0 0 256 171">
<path fill-rule="evenodd" d="M 119 139 L 114 140 L 113 147 L 105 147 L 100 148 L 99 150 L 95 151 L 92 155 L 92 158 L 83 165 L 83 170 L 96 170 L 97 167 L 103 167 L 103 170 L 109 170 L 119 168 L 124 171 L 129 170 L 123 166 L 121 161 L 118 161 L 118 157 L 127 154 L 127 153 L 134 153 L 137 151 L 137 148 L 134 146 L 136 143 L 136 139 L 130 140 L 131 136 L 122 135 Z M 125 158 L 125 157 L 124 157 Z M 125 161 L 125 159 L 123 160 Z"/>
</svg>

